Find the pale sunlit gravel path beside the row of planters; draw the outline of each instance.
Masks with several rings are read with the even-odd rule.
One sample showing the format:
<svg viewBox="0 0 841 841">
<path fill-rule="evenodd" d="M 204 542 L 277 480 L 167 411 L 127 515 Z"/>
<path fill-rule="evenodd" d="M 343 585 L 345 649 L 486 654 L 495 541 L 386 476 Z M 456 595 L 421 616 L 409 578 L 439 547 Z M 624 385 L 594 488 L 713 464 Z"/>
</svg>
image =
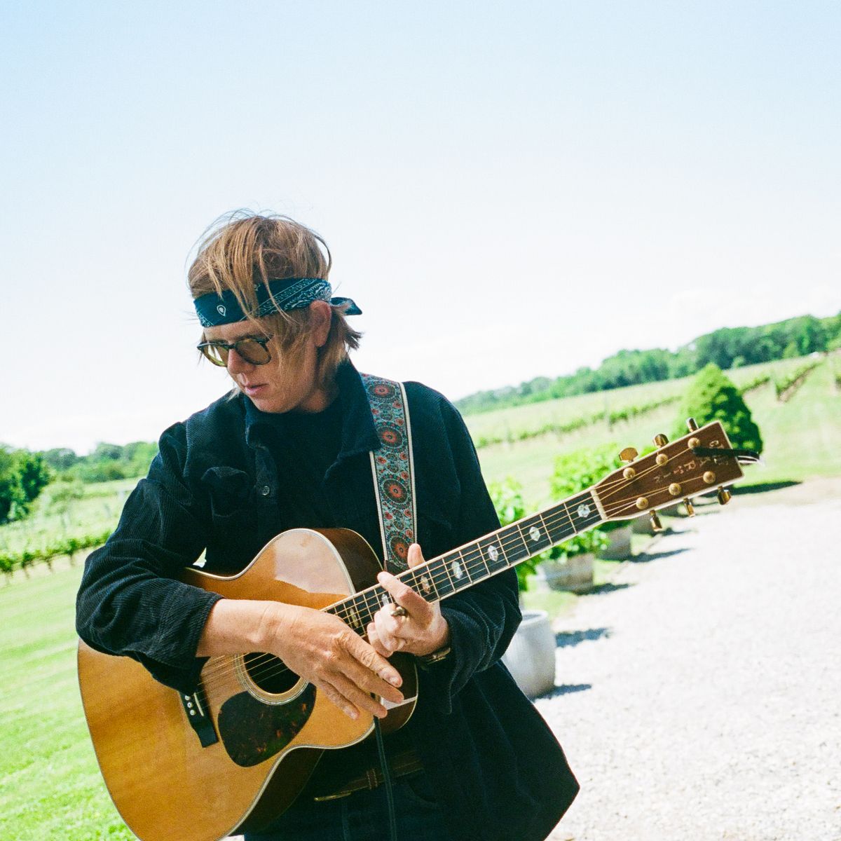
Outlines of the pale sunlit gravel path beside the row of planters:
<svg viewBox="0 0 841 841">
<path fill-rule="evenodd" d="M 705 506 L 556 629 L 553 841 L 841 839 L 841 496 L 803 487 Z"/>
</svg>

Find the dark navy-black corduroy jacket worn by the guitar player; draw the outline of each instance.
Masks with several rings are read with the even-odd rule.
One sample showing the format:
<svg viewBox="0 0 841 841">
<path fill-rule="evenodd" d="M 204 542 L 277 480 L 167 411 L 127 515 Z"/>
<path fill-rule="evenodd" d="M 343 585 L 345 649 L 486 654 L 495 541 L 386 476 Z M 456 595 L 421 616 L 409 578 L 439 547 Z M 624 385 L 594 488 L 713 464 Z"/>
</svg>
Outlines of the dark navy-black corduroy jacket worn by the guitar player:
<svg viewBox="0 0 841 841">
<path fill-rule="evenodd" d="M 341 449 L 320 482 L 302 470 L 277 417 L 262 415 L 243 395 L 217 400 L 163 433 L 117 530 L 87 559 L 77 599 L 82 639 L 192 691 L 204 664 L 198 639 L 220 596 L 177 575 L 203 551 L 205 570 L 229 574 L 279 532 L 343 526 L 381 553 L 368 457 L 380 442 L 356 369 L 342 365 L 336 380 Z M 406 394 L 417 537 L 433 558 L 499 521 L 458 411 L 420 383 L 406 383 Z M 521 619 L 516 575 L 509 570 L 452 595 L 442 612 L 452 653 L 421 669 L 407 734 L 453 838 L 541 841 L 578 784 L 553 733 L 500 662 Z"/>
</svg>

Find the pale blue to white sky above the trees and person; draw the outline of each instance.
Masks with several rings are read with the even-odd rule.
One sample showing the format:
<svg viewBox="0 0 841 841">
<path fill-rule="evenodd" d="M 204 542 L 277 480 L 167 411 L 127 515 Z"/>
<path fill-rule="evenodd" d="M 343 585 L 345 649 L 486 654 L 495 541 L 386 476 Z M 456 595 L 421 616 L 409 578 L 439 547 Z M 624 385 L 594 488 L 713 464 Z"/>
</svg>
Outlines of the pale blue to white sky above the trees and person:
<svg viewBox="0 0 841 841">
<path fill-rule="evenodd" d="M 841 310 L 837 3 L 0 6 L 0 442 L 225 393 L 185 278 L 233 209 L 329 244 L 358 368 L 452 399 Z"/>
</svg>

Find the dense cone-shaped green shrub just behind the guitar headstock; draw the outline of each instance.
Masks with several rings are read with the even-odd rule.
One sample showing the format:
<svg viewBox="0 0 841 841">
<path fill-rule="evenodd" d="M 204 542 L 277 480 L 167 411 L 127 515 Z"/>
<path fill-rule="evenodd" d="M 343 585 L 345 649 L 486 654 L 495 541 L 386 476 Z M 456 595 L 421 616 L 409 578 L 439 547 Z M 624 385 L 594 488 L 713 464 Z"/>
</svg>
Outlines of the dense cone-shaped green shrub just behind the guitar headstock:
<svg viewBox="0 0 841 841">
<path fill-rule="evenodd" d="M 688 417 L 695 418 L 698 426 L 721 421 L 733 447 L 762 452 L 759 426 L 754 423 L 742 394 L 717 365 L 710 363 L 690 383 L 674 426 L 674 437 L 686 434 Z"/>
</svg>

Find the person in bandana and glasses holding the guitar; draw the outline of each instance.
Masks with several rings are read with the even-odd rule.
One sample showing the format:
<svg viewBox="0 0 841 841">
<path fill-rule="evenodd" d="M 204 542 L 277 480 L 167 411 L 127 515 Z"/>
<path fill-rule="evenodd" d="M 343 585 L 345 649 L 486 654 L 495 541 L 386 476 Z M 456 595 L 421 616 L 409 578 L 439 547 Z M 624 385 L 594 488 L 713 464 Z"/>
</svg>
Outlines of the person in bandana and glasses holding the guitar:
<svg viewBox="0 0 841 841">
<path fill-rule="evenodd" d="M 383 562 L 370 452 L 381 446 L 349 352 L 349 299 L 331 298 L 330 251 L 294 220 L 235 214 L 209 230 L 188 272 L 204 357 L 232 390 L 163 432 L 148 476 L 108 542 L 87 558 L 77 630 L 132 657 L 161 683 L 197 685 L 209 657 L 267 652 L 347 716 L 381 718 L 403 700 L 394 652 L 413 655 L 418 699 L 383 739 L 397 837 L 537 841 L 578 784 L 563 750 L 500 662 L 521 620 L 516 574 L 430 602 L 383 571 L 390 594 L 362 636 L 338 616 L 277 601 L 226 599 L 178 580 L 244 569 L 290 528 L 350 528 Z M 405 309 L 408 309 L 404 306 Z M 410 567 L 499 528 L 468 431 L 453 405 L 405 383 L 416 542 Z M 382 700 L 380 700 L 382 699 Z M 249 841 L 389 838 L 389 795 L 373 738 L 325 751 L 286 812 Z M 352 780 L 368 780 L 352 791 Z"/>
</svg>

